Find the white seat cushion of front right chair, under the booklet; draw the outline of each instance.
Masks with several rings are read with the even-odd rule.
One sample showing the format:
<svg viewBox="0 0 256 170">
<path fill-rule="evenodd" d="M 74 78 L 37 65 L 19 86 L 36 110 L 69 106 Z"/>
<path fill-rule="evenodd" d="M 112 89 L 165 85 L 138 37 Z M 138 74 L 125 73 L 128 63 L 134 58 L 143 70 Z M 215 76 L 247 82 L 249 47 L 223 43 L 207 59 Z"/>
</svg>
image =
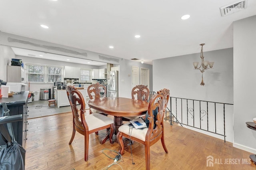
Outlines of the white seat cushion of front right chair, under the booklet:
<svg viewBox="0 0 256 170">
<path fill-rule="evenodd" d="M 140 129 L 136 129 L 134 127 L 132 128 L 132 127 L 128 126 L 129 124 L 130 124 L 130 122 L 120 126 L 118 128 L 119 132 L 122 132 L 124 134 L 128 134 L 132 137 L 135 137 L 135 138 L 138 138 L 142 141 L 145 141 L 146 133 L 148 131 L 148 128 L 144 128 L 144 129 L 140 130 Z M 129 130 L 130 130 L 130 134 L 129 134 Z"/>
</svg>

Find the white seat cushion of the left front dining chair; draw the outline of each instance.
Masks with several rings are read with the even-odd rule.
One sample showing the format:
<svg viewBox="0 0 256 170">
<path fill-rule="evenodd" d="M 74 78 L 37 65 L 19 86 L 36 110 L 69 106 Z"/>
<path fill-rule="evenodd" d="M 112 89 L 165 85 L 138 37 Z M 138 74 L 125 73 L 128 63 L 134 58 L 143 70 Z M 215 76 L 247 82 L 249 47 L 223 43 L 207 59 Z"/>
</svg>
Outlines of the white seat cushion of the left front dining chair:
<svg viewBox="0 0 256 170">
<path fill-rule="evenodd" d="M 86 115 L 85 120 L 89 130 L 104 127 L 106 125 L 114 123 L 113 119 L 98 113 Z"/>
</svg>

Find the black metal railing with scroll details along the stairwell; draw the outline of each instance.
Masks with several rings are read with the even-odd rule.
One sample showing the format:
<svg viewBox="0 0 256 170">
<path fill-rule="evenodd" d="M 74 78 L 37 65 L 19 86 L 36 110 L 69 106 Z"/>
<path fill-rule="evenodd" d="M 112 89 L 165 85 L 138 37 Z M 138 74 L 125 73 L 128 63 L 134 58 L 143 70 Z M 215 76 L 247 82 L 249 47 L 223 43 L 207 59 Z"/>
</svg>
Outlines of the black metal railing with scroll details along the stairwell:
<svg viewBox="0 0 256 170">
<path fill-rule="evenodd" d="M 165 119 L 170 121 L 171 125 L 178 123 L 224 136 L 224 142 L 226 142 L 225 113 L 226 107 L 232 105 L 229 103 L 170 97 L 170 109 L 168 109 L 170 116 Z"/>
</svg>

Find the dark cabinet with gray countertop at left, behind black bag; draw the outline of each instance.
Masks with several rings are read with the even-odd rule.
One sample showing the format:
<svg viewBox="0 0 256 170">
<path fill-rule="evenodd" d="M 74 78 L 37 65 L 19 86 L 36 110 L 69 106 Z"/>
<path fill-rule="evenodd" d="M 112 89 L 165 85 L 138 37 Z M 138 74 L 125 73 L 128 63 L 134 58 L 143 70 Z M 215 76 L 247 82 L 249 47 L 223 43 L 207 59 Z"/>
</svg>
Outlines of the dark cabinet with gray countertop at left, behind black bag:
<svg viewBox="0 0 256 170">
<path fill-rule="evenodd" d="M 6 103 L 6 105 L 10 110 L 10 116 L 22 115 L 22 121 L 12 122 L 12 128 L 15 140 L 18 142 L 18 144 L 25 148 L 28 131 L 28 91 L 22 91 L 21 94 L 0 99 L 0 106 L 2 105 L 2 102 L 9 102 Z M 4 144 L 6 144 L 6 142 L 0 138 L 0 145 Z"/>
</svg>

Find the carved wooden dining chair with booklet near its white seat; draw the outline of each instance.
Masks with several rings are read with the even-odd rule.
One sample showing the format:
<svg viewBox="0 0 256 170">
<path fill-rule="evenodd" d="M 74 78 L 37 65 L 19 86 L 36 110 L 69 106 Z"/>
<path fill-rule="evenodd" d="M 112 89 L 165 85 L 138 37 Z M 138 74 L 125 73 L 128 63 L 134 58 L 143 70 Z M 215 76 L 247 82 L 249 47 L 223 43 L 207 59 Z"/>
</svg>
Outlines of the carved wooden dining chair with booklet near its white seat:
<svg viewBox="0 0 256 170">
<path fill-rule="evenodd" d="M 148 127 L 143 130 L 132 128 L 126 123 L 118 128 L 117 140 L 120 144 L 120 154 L 124 154 L 124 142 L 122 137 L 137 141 L 145 146 L 146 170 L 150 170 L 150 146 L 161 139 L 164 151 L 168 153 L 164 142 L 164 113 L 166 111 L 170 91 L 162 89 L 150 99 L 148 105 Z M 156 119 L 154 120 L 153 112 L 156 111 Z M 147 116 L 146 116 L 147 117 Z M 131 129 L 132 128 L 132 129 Z M 158 157 L 158 159 L 160 159 Z"/>
</svg>

